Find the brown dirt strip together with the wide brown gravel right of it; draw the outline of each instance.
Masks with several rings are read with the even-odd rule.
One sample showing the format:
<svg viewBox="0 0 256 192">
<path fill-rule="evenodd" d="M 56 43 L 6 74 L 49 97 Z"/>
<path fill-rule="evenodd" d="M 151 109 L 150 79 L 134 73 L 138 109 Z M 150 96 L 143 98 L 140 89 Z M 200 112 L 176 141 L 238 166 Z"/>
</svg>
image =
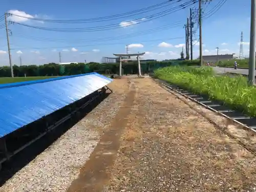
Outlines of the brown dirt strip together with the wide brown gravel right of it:
<svg viewBox="0 0 256 192">
<path fill-rule="evenodd" d="M 256 191 L 255 157 L 151 78 L 110 87 L 126 97 L 68 192 Z"/>
</svg>

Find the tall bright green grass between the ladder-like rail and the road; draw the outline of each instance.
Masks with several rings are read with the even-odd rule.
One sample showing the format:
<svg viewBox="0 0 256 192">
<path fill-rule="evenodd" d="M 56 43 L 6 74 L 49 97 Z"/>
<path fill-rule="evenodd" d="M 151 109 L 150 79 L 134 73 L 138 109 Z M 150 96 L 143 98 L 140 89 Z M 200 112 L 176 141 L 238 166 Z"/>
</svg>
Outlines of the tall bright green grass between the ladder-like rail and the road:
<svg viewBox="0 0 256 192">
<path fill-rule="evenodd" d="M 256 88 L 248 86 L 247 79 L 243 76 L 215 76 L 209 67 L 193 70 L 186 67 L 167 67 L 158 69 L 155 75 L 195 94 L 208 95 L 209 98 L 222 101 L 233 109 L 256 116 Z"/>
</svg>

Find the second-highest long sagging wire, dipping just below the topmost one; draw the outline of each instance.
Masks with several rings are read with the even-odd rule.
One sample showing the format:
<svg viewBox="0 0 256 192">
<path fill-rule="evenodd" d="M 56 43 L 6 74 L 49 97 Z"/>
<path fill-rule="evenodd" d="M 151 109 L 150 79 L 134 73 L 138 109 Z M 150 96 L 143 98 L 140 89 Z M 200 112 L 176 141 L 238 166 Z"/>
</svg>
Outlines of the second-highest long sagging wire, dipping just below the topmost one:
<svg viewBox="0 0 256 192">
<path fill-rule="evenodd" d="M 141 24 L 141 23 L 150 22 L 151 20 L 154 20 L 154 19 L 163 17 L 165 15 L 168 15 L 170 13 L 174 13 L 174 12 L 177 12 L 179 10 L 185 9 L 188 6 L 195 4 L 197 1 L 198 0 L 190 0 L 187 3 L 181 4 L 177 7 L 162 11 L 162 12 L 157 13 L 157 14 L 147 16 L 146 18 L 135 19 L 135 20 L 132 21 L 133 22 L 132 24 L 133 25 L 138 25 L 138 24 Z M 177 10 L 174 10 L 174 9 L 177 9 Z M 14 22 L 14 23 L 16 23 L 16 22 Z M 25 26 L 25 27 L 34 28 L 34 29 L 40 29 L 40 30 L 46 30 L 46 31 L 58 31 L 58 32 L 95 32 L 95 31 L 103 31 L 103 30 L 105 31 L 105 30 L 122 28 L 122 26 L 120 26 L 120 23 L 112 24 L 112 25 L 105 25 L 105 26 L 100 26 L 100 27 L 88 27 L 88 28 L 76 28 L 76 29 L 74 29 L 74 28 L 73 29 L 46 28 L 46 27 L 30 26 L 30 25 L 20 24 L 20 23 L 16 23 L 16 24 L 22 25 L 22 26 Z"/>
</svg>

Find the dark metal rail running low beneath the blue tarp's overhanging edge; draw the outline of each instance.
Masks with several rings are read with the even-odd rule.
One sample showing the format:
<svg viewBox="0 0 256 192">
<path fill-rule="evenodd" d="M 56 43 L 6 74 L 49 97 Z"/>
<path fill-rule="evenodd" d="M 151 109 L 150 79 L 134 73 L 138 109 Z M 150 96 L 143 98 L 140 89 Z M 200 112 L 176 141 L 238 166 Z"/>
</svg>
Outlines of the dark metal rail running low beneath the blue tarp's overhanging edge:
<svg viewBox="0 0 256 192">
<path fill-rule="evenodd" d="M 41 137 L 45 136 L 47 133 L 51 132 L 52 130 L 54 130 L 56 127 L 58 127 L 59 125 L 61 125 L 62 123 L 65 123 L 67 120 L 71 119 L 78 111 L 86 108 L 86 106 L 88 106 L 89 104 L 91 104 L 93 101 L 95 101 L 97 98 L 99 98 L 102 94 L 104 94 L 106 92 L 106 90 L 110 90 L 111 93 L 113 93 L 113 91 L 111 89 L 109 89 L 108 87 L 103 87 L 101 89 L 98 90 L 98 93 L 96 96 L 92 97 L 90 100 L 88 100 L 87 102 L 83 103 L 81 106 L 78 106 L 76 109 L 74 109 L 72 112 L 70 112 L 67 116 L 59 119 L 58 121 L 54 122 L 53 124 L 51 124 L 50 126 L 48 126 L 45 130 L 44 133 L 41 133 L 40 135 L 38 135 L 37 137 L 35 137 L 34 139 L 30 140 L 29 142 L 27 142 L 26 144 L 20 146 L 17 150 L 9 153 L 6 149 L 6 157 L 0 159 L 0 170 L 2 168 L 2 163 L 9 160 L 12 156 L 16 155 L 17 153 L 19 153 L 20 151 L 24 150 L 24 148 L 28 147 L 29 145 L 31 145 L 32 143 L 34 143 L 35 141 L 37 141 L 38 139 L 40 139 Z M 3 145 L 6 148 L 6 143 L 4 141 Z"/>
</svg>

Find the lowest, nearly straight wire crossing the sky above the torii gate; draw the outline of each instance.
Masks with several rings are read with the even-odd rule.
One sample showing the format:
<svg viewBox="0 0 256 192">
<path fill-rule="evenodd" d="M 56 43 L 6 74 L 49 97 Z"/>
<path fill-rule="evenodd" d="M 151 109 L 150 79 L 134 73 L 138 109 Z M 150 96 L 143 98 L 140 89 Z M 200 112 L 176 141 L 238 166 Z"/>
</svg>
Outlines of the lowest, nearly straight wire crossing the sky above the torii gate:
<svg viewBox="0 0 256 192">
<path fill-rule="evenodd" d="M 172 37 L 172 38 L 165 38 L 164 40 L 171 40 L 171 39 L 182 39 L 184 37 Z M 153 39 L 153 40 L 146 40 L 146 41 L 140 41 L 140 42 L 153 42 L 153 41 L 160 41 L 163 39 Z M 111 43 L 111 44 L 92 44 L 92 45 L 75 45 L 74 47 L 91 47 L 91 46 L 108 46 L 108 45 L 126 45 L 124 42 L 116 42 L 116 43 Z M 16 46 L 16 45 L 13 45 Z M 23 48 L 12 48 L 12 50 L 26 50 L 26 49 L 35 49 L 35 50 L 41 50 L 41 49 L 63 49 L 63 48 L 70 48 L 70 46 L 67 47 L 45 47 L 45 48 L 33 48 L 33 47 L 23 47 Z"/>
</svg>

